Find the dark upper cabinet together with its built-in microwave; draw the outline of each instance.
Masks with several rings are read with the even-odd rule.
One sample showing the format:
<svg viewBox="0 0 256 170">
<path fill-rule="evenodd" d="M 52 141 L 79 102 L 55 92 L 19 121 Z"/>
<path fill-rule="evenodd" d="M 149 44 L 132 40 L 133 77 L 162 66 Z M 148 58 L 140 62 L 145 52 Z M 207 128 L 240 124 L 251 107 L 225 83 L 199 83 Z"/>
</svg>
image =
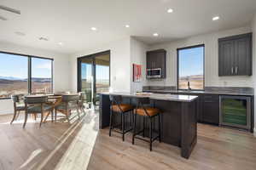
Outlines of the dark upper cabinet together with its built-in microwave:
<svg viewBox="0 0 256 170">
<path fill-rule="evenodd" d="M 166 50 L 147 52 L 147 78 L 166 78 Z"/>
</svg>

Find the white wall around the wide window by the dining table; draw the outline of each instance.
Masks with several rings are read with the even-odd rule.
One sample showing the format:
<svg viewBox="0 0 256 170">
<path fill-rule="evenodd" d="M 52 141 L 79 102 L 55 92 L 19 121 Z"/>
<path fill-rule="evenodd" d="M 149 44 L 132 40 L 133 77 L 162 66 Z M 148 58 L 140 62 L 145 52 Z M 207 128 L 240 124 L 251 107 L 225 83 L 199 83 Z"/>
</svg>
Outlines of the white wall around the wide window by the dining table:
<svg viewBox="0 0 256 170">
<path fill-rule="evenodd" d="M 70 66 L 69 57 L 66 54 L 56 54 L 54 52 L 28 48 L 19 46 L 8 42 L 0 42 L 0 51 L 16 53 L 16 54 L 29 54 L 38 57 L 54 59 L 53 68 L 53 84 L 54 91 L 69 91 L 70 90 Z M 13 113 L 13 104 L 11 99 L 0 99 L 0 115 Z"/>
</svg>

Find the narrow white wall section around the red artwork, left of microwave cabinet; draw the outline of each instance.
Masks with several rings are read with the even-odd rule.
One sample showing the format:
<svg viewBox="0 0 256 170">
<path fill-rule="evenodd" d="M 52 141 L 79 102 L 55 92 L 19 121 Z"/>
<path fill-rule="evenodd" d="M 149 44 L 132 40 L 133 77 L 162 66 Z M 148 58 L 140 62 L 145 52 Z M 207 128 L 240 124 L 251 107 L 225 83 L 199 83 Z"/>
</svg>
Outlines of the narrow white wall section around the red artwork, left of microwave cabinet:
<svg viewBox="0 0 256 170">
<path fill-rule="evenodd" d="M 131 93 L 143 91 L 143 86 L 146 85 L 146 52 L 148 46 L 143 42 L 137 41 L 131 37 Z M 142 65 L 142 81 L 133 82 L 133 67 L 132 64 Z"/>
</svg>

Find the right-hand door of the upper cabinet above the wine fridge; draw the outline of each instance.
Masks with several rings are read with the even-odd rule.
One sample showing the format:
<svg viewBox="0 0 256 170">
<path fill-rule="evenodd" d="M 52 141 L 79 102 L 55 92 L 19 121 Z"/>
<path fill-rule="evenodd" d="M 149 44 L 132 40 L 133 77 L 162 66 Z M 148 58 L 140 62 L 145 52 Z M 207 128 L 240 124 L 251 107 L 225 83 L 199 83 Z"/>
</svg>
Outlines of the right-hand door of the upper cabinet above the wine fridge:
<svg viewBox="0 0 256 170">
<path fill-rule="evenodd" d="M 252 75 L 251 38 L 241 37 L 235 41 L 235 74 L 239 76 Z"/>
</svg>

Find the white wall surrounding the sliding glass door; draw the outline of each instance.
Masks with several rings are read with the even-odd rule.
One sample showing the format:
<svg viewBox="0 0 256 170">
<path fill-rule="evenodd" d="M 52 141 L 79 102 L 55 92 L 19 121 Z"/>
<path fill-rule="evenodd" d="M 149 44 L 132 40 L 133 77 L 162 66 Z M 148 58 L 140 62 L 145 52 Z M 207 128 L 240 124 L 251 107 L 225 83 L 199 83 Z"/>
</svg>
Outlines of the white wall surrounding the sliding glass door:
<svg viewBox="0 0 256 170">
<path fill-rule="evenodd" d="M 96 54 L 110 50 L 110 88 L 114 91 L 131 91 L 131 58 L 130 37 L 118 41 L 109 42 L 96 48 L 84 49 L 84 51 L 73 54 L 71 59 L 72 91 L 77 91 L 77 58 L 89 54 Z"/>
</svg>

